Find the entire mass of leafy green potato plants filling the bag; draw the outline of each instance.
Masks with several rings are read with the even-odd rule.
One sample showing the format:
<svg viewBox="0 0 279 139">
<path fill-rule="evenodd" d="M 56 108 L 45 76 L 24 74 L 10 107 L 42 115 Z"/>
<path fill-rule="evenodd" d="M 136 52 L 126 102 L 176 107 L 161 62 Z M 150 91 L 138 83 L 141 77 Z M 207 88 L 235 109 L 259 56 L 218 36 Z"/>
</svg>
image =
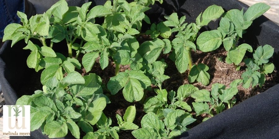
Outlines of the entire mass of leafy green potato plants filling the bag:
<svg viewBox="0 0 279 139">
<path fill-rule="evenodd" d="M 233 81 L 229 88 L 215 83 L 210 92 L 185 84 L 177 93 L 168 92 L 163 88 L 163 82 L 170 77 L 164 75 L 167 67 L 164 59 L 158 60 L 161 54 L 169 54 L 180 73 L 189 69 L 190 83 L 197 81 L 208 85 L 209 67 L 203 63 L 193 65 L 192 51 L 210 52 L 223 43 L 228 51 L 226 61 L 239 68 L 246 51 L 253 52 L 253 49 L 249 44 L 236 46 L 237 40 L 269 6 L 258 3 L 243 14 L 243 10 L 237 9 L 225 13 L 222 7 L 212 5 L 198 15 L 196 23 L 186 23 L 186 16 L 179 18 L 173 13 L 165 16 L 166 21 L 151 24 L 144 12 L 155 1 L 163 2 L 113 0 L 89 9 L 91 2 L 76 7 L 60 0 L 44 14 L 29 20 L 24 13 L 18 12 L 22 25 L 8 25 L 3 41 L 12 40 L 13 46 L 24 39 L 27 46 L 23 49 L 31 50 L 28 67 L 36 72 L 42 70 L 42 91 L 23 95 L 16 103 L 31 106 L 31 131 L 40 128 L 49 138 L 64 137 L 68 129 L 76 138 L 80 138 L 80 131 L 83 131 L 86 139 L 118 139 L 120 130 L 134 130 L 132 134 L 138 139 L 173 138 L 187 131 L 187 126 L 196 121 L 195 116 L 208 114 L 212 117 L 226 106 L 232 107 L 236 103 L 237 86 L 241 83 L 246 88 L 250 84 L 261 87 L 265 75 L 272 73 L 274 65 L 268 63 L 268 59 L 272 57 L 273 48 L 264 45 L 255 50 L 253 59 L 244 60 L 247 69 L 242 74 L 243 79 Z M 217 30 L 198 36 L 201 27 L 221 16 Z M 100 18 L 103 22 L 95 23 Z M 143 22 L 151 24 L 145 34 L 153 40 L 140 44 L 137 37 L 142 33 Z M 171 35 L 174 35 L 173 40 L 169 39 Z M 41 44 L 34 43 L 36 39 Z M 53 50 L 59 42 L 66 42 L 67 56 Z M 104 84 L 98 75 L 91 73 L 94 72 L 92 67 L 98 61 L 102 70 L 109 68 L 109 60 L 115 64 L 115 76 Z M 129 69 L 119 72 L 120 65 L 129 65 Z M 84 76 L 78 72 L 83 69 Z M 115 124 L 103 113 L 110 103 L 109 95 L 104 95 L 103 91 L 109 91 L 111 95 L 122 92 L 128 102 L 144 103 L 147 114 L 141 120 L 141 128 L 133 123 L 135 106 L 127 107 L 123 117 L 117 114 L 118 126 L 112 127 Z M 157 95 L 145 99 L 149 91 Z M 188 104 L 188 99 L 194 102 Z"/>
</svg>

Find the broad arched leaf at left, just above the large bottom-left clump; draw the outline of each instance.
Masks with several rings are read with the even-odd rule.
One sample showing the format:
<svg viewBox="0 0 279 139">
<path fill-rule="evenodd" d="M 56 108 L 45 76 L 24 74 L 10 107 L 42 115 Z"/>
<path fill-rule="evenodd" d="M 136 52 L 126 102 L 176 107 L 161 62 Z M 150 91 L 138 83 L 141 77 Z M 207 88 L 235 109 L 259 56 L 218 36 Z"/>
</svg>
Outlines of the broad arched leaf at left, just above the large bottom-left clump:
<svg viewBox="0 0 279 139">
<path fill-rule="evenodd" d="M 47 80 L 56 77 L 58 80 L 63 78 L 62 68 L 59 65 L 51 65 L 42 71 L 41 83 L 46 84 Z"/>
</svg>

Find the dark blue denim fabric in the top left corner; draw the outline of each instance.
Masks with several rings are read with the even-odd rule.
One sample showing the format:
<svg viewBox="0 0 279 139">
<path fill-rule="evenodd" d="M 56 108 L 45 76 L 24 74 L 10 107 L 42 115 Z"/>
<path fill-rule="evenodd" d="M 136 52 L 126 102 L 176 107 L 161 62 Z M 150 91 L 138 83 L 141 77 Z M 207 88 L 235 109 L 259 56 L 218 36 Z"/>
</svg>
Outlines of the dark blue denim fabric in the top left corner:
<svg viewBox="0 0 279 139">
<path fill-rule="evenodd" d="M 17 11 L 24 12 L 24 0 L 0 0 L 0 38 L 4 29 L 10 23 L 20 23 Z"/>
</svg>

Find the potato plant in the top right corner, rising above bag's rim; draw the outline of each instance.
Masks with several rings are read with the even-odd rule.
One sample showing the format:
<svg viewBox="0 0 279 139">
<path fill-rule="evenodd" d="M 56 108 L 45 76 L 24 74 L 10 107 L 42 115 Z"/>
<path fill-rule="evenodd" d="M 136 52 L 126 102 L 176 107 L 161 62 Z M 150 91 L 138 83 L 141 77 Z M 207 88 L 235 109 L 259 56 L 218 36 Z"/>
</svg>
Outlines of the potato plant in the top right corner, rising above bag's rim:
<svg viewBox="0 0 279 139">
<path fill-rule="evenodd" d="M 217 30 L 202 32 L 197 38 L 197 49 L 202 52 L 213 51 L 223 43 L 224 48 L 228 51 L 226 58 L 227 63 L 234 63 L 239 70 L 239 63 L 242 61 L 246 50 L 252 52 L 252 48 L 248 44 L 236 46 L 238 39 L 242 38 L 242 34 L 250 27 L 252 21 L 263 15 L 270 6 L 264 3 L 256 3 L 248 8 L 243 14 L 243 9 L 232 9 L 228 11 L 220 20 Z"/>
</svg>

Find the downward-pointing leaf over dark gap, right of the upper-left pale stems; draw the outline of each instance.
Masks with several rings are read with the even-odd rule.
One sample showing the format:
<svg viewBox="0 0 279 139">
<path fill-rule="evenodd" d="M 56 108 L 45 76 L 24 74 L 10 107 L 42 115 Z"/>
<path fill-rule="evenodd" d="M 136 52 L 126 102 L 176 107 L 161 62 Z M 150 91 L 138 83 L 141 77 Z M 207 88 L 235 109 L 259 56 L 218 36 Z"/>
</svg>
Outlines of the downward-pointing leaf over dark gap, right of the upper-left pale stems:
<svg viewBox="0 0 279 139">
<path fill-rule="evenodd" d="M 82 65 L 83 65 L 84 69 L 86 70 L 86 72 L 89 72 L 92 69 L 92 67 L 98 57 L 99 57 L 99 52 L 86 53 L 82 57 Z"/>
</svg>

